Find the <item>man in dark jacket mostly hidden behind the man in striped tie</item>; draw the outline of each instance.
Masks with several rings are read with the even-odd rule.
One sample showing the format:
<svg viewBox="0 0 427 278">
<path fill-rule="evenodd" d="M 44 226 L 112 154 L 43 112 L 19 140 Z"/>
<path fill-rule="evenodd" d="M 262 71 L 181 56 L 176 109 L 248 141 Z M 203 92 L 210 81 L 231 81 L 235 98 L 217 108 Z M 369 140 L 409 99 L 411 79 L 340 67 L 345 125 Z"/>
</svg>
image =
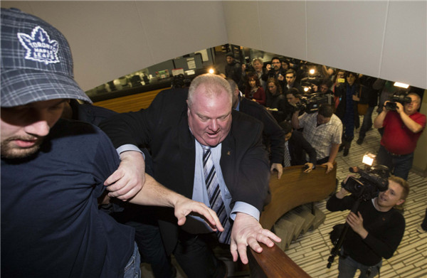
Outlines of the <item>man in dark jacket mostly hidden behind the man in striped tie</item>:
<svg viewBox="0 0 427 278">
<path fill-rule="evenodd" d="M 230 79 L 227 81 L 233 92 L 233 109 L 248 114 L 264 124 L 263 143 L 267 149 L 270 149 L 270 171 L 273 172 L 273 170 L 276 170 L 278 172 L 278 178 L 280 178 L 283 173 L 282 161 L 285 151 L 285 134 L 283 130 L 263 105 L 248 100 L 246 97 L 242 97 L 236 82 Z"/>
</svg>

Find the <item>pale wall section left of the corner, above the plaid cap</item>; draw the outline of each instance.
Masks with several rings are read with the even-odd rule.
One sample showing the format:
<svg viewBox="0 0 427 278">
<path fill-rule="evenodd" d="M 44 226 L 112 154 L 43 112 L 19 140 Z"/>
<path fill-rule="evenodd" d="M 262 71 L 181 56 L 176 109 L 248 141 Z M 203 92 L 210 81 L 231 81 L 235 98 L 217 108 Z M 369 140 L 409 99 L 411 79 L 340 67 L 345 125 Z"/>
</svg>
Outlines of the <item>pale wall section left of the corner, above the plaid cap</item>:
<svg viewBox="0 0 427 278">
<path fill-rule="evenodd" d="M 1 1 L 12 6 L 65 35 L 83 90 L 228 43 L 219 1 Z"/>
</svg>

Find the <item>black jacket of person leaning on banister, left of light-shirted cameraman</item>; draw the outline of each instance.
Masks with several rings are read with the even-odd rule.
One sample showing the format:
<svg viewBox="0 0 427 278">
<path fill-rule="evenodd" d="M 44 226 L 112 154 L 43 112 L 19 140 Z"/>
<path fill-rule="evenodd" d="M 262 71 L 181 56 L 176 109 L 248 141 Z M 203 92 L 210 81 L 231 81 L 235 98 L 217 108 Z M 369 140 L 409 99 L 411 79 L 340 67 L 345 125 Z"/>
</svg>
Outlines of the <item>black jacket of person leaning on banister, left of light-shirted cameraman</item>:
<svg viewBox="0 0 427 278">
<path fill-rule="evenodd" d="M 316 165 L 316 150 L 310 143 L 302 136 L 302 132 L 294 130 L 288 143 L 290 154 L 290 165 L 304 165 L 307 162 L 305 153 L 310 157 L 310 163 Z"/>
</svg>

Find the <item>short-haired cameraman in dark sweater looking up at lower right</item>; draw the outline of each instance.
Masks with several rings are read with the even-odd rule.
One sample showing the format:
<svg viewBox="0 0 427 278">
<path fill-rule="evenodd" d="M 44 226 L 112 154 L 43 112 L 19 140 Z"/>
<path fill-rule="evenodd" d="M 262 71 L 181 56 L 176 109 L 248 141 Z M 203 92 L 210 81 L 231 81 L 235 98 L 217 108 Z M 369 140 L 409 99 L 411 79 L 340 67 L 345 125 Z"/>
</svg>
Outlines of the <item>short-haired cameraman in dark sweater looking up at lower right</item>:
<svg viewBox="0 0 427 278">
<path fill-rule="evenodd" d="M 348 179 L 348 178 L 347 178 Z M 346 180 L 347 182 L 347 180 Z M 366 185 L 365 185 L 366 186 Z M 389 188 L 379 196 L 360 203 L 357 214 L 349 213 L 349 225 L 339 256 L 338 277 L 375 277 L 379 273 L 382 258 L 389 259 L 399 246 L 405 230 L 405 219 L 394 205 L 404 203 L 408 196 L 408 183 L 396 176 L 389 177 Z M 356 196 L 341 188 L 326 204 L 330 211 L 351 209 Z"/>
</svg>

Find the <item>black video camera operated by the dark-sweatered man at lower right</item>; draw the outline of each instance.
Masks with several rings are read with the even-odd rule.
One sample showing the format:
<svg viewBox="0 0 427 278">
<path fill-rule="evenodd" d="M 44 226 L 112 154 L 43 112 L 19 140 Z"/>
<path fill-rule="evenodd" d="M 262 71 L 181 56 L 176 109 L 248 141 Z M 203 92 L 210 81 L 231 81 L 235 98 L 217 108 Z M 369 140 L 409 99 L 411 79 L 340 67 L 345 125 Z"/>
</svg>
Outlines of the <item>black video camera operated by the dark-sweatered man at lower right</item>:
<svg viewBox="0 0 427 278">
<path fill-rule="evenodd" d="M 350 167 L 349 171 L 359 173 L 360 176 L 359 178 L 349 176 L 345 183 L 342 182 L 342 187 L 365 201 L 375 198 L 379 192 L 386 191 L 389 188 L 390 171 L 386 166 L 371 166 L 367 170 Z"/>
</svg>

